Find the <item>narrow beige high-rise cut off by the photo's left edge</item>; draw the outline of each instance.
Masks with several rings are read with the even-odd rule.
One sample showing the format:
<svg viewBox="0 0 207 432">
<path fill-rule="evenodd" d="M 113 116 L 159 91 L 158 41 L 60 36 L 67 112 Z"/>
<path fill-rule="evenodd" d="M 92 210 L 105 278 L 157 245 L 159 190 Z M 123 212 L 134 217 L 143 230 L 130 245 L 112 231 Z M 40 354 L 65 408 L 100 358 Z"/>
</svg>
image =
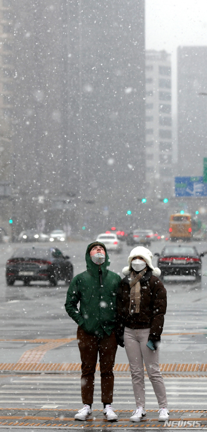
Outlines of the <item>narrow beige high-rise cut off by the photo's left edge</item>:
<svg viewBox="0 0 207 432">
<path fill-rule="evenodd" d="M 11 211 L 13 148 L 13 27 L 12 8 L 0 0 L 0 227 L 8 233 Z"/>
</svg>

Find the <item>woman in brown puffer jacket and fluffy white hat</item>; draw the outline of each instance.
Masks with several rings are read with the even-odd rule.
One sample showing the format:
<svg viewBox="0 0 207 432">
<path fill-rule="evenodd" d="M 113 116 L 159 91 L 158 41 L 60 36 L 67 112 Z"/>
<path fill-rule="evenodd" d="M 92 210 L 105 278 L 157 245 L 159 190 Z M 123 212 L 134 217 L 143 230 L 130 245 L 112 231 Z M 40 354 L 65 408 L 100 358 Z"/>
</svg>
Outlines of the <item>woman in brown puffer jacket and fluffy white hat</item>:
<svg viewBox="0 0 207 432">
<path fill-rule="evenodd" d="M 132 375 L 137 409 L 130 420 L 146 419 L 144 364 L 159 403 L 159 421 L 169 419 L 166 390 L 159 368 L 159 344 L 166 313 L 166 289 L 158 279 L 160 269 L 152 265 L 152 253 L 134 248 L 124 267 L 117 294 L 117 334 L 125 346 Z M 148 345 L 148 346 L 147 346 Z M 149 347 L 151 346 L 151 347 Z"/>
</svg>

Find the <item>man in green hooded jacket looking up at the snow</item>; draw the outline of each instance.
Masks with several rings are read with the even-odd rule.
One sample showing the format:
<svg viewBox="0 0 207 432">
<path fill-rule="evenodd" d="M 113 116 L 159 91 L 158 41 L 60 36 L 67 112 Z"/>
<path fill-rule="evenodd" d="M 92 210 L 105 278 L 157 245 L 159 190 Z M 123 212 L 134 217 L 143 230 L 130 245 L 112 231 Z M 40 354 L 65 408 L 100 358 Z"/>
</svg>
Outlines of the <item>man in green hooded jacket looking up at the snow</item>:
<svg viewBox="0 0 207 432">
<path fill-rule="evenodd" d="M 66 312 L 78 324 L 77 341 L 82 361 L 84 407 L 75 414 L 75 419 L 83 421 L 92 418 L 94 373 L 99 353 L 103 416 L 108 421 L 116 421 L 118 416 L 111 403 L 117 350 L 114 330 L 116 293 L 121 278 L 109 270 L 110 259 L 102 243 L 96 241 L 88 245 L 85 260 L 87 270 L 72 279 L 65 304 Z"/>
</svg>

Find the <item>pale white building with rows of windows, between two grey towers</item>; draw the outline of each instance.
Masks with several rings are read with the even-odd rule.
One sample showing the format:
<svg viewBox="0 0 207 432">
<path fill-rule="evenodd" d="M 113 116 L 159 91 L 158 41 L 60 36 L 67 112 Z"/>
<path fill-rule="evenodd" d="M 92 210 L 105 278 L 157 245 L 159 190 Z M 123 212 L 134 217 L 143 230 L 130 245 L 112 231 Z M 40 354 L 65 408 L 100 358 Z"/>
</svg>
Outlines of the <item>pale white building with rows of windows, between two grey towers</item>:
<svg viewBox="0 0 207 432">
<path fill-rule="evenodd" d="M 171 60 L 146 51 L 146 186 L 151 198 L 172 196 Z"/>
</svg>

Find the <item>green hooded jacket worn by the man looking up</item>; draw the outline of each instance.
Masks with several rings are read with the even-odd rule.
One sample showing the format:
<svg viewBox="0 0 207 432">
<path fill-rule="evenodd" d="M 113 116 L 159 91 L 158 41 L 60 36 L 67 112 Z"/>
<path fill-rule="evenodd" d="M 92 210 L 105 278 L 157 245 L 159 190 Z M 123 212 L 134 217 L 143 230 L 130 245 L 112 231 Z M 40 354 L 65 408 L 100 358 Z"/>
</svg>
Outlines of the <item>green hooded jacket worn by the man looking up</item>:
<svg viewBox="0 0 207 432">
<path fill-rule="evenodd" d="M 103 330 L 110 335 L 115 327 L 116 293 L 121 278 L 109 270 L 110 259 L 106 251 L 106 259 L 100 266 L 102 270 L 102 285 L 100 285 L 99 265 L 91 260 L 88 248 L 85 254 L 87 270 L 72 279 L 65 308 L 69 317 L 83 330 L 103 337 Z M 80 302 L 79 311 L 78 302 Z"/>
</svg>

